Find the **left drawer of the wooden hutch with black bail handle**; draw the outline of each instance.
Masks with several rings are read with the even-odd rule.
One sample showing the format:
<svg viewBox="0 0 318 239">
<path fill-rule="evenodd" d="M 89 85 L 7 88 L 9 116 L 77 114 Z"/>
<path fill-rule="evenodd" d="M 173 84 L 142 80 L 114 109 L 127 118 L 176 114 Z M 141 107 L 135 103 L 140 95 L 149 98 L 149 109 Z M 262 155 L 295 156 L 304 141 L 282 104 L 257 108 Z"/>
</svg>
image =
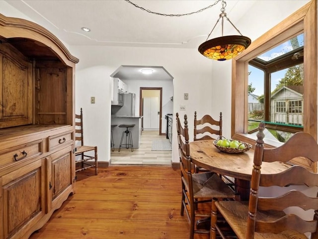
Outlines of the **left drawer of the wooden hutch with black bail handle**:
<svg viewBox="0 0 318 239">
<path fill-rule="evenodd" d="M 42 142 L 40 139 L 0 152 L 0 166 L 40 155 L 43 152 Z"/>
</svg>

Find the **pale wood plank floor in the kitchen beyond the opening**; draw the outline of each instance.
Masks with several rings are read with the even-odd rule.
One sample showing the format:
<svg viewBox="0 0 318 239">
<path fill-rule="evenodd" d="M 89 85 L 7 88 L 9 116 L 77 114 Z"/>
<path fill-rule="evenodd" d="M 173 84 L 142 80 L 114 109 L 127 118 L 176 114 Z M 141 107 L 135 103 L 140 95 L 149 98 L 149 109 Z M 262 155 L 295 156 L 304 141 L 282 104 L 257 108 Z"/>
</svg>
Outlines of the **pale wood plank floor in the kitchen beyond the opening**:
<svg viewBox="0 0 318 239">
<path fill-rule="evenodd" d="M 118 148 L 110 153 L 111 165 L 171 165 L 171 151 L 152 151 L 154 139 L 165 139 L 159 131 L 142 131 L 140 147 L 131 152 L 130 149 Z"/>
</svg>

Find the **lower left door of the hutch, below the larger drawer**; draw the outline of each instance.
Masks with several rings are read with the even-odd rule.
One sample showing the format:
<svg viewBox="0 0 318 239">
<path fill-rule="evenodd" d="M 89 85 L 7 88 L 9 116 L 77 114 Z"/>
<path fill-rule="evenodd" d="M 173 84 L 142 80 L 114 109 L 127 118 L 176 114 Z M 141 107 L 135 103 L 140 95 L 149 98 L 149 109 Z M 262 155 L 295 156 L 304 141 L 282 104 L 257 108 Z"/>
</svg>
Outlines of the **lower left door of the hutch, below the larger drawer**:
<svg viewBox="0 0 318 239">
<path fill-rule="evenodd" d="M 23 238 L 44 216 L 44 175 L 45 161 L 40 159 L 0 178 L 1 238 Z"/>
</svg>

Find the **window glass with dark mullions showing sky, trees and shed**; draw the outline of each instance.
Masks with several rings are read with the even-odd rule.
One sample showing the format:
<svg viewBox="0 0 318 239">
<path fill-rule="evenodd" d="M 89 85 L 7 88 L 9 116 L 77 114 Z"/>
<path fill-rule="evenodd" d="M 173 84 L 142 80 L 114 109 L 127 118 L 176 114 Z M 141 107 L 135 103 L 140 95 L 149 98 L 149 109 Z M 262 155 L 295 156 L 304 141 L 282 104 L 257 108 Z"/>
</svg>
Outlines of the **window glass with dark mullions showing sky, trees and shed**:
<svg viewBox="0 0 318 239">
<path fill-rule="evenodd" d="M 249 61 L 248 133 L 255 133 L 260 121 L 265 138 L 278 142 L 303 131 L 303 63 L 303 33 Z"/>
</svg>

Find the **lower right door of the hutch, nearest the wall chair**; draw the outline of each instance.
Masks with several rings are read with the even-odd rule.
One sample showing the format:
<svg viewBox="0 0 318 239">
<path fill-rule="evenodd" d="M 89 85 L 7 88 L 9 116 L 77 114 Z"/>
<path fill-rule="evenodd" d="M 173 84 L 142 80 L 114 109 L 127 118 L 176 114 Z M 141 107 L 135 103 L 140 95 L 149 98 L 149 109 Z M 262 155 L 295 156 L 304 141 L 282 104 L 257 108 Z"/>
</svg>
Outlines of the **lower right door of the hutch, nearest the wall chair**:
<svg viewBox="0 0 318 239">
<path fill-rule="evenodd" d="M 58 209 L 73 192 L 75 185 L 75 161 L 72 146 L 47 157 L 48 210 Z"/>
</svg>

